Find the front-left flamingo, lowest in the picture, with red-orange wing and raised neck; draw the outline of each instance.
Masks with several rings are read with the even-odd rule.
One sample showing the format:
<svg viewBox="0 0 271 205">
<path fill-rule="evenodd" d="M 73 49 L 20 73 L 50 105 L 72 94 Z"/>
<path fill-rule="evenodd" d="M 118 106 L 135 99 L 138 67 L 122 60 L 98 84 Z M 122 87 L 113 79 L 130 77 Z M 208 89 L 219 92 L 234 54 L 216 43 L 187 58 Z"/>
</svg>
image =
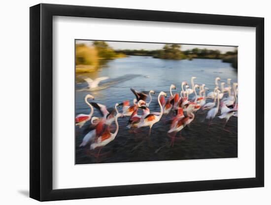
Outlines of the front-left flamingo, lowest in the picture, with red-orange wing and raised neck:
<svg viewBox="0 0 271 205">
<path fill-rule="evenodd" d="M 118 113 L 115 117 L 115 124 L 116 124 L 115 132 L 111 133 L 110 128 L 108 126 L 106 130 L 95 140 L 95 142 L 91 144 L 90 149 L 95 149 L 97 147 L 102 148 L 103 146 L 106 146 L 108 143 L 112 142 L 115 139 L 119 131 L 118 117 L 123 117 L 123 114 Z M 101 151 L 101 148 L 99 150 L 99 153 Z"/>
</svg>

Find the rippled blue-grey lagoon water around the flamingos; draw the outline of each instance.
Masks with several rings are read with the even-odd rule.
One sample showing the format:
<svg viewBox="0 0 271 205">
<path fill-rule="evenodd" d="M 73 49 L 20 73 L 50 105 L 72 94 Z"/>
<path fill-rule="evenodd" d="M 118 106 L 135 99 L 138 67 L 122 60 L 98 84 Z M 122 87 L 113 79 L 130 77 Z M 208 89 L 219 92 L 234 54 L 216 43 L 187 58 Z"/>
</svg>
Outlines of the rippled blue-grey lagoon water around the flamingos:
<svg viewBox="0 0 271 205">
<path fill-rule="evenodd" d="M 85 89 L 87 83 L 83 78 L 96 79 L 105 76 L 109 79 L 102 81 L 100 88 L 92 91 Z M 181 82 L 187 81 L 191 85 L 192 76 L 197 77 L 195 84 L 204 83 L 210 91 L 213 91 L 216 77 L 220 77 L 221 82 L 226 83 L 225 85 L 227 85 L 228 78 L 232 79 L 232 83 L 237 82 L 237 69 L 220 59 L 165 60 L 130 56 L 109 60 L 104 63 L 100 71 L 76 75 L 75 115 L 90 112 L 84 102 L 86 94 L 94 95 L 94 101 L 106 105 L 107 108 L 113 108 L 115 103 L 121 103 L 124 100 L 130 100 L 132 104 L 135 95 L 130 88 L 138 91 L 155 90 L 156 93 L 153 95 L 149 108 L 151 112 L 159 112 L 157 103 L 159 92 L 166 91 L 169 94 L 171 84 L 176 86 L 173 93 L 180 92 Z M 191 95 L 189 98 L 193 96 Z M 213 100 L 207 99 L 206 102 L 210 101 Z M 167 135 L 169 120 L 173 113 L 163 116 L 152 127 L 150 138 L 147 137 L 148 127 L 143 128 L 137 134 L 130 133 L 126 128 L 129 117 L 119 118 L 120 128 L 117 137 L 102 148 L 99 158 L 93 155 L 98 150 L 90 151 L 89 145 L 78 147 L 83 137 L 91 130 L 90 121 L 88 121 L 81 129 L 76 127 L 76 164 L 237 157 L 237 117 L 230 118 L 227 124 L 230 132 L 227 132 L 223 130 L 224 120 L 218 117 L 214 118 L 213 123 L 215 124 L 211 124 L 207 130 L 207 121 L 204 120 L 206 114 L 207 111 L 203 114 L 198 111 L 194 121 L 182 130 L 183 138 L 178 139 L 177 134 L 173 147 L 169 146 L 170 138 Z M 101 114 L 95 109 L 93 116 L 101 117 Z M 114 131 L 113 123 L 111 132 Z"/>
</svg>

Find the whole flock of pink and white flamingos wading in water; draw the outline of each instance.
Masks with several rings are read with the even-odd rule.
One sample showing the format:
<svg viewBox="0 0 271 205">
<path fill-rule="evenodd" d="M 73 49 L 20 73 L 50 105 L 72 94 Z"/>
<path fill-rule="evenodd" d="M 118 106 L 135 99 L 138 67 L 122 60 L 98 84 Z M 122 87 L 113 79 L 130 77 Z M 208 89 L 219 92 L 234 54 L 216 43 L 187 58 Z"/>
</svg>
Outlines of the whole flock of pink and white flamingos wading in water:
<svg viewBox="0 0 271 205">
<path fill-rule="evenodd" d="M 88 102 L 88 99 L 94 99 L 93 95 L 87 94 L 85 96 L 85 102 L 90 107 L 90 114 L 79 114 L 75 117 L 75 125 L 81 128 L 87 121 L 91 120 L 91 126 L 94 127 L 89 133 L 85 135 L 80 146 L 86 146 L 90 144 L 90 149 L 101 148 L 113 141 L 119 130 L 118 117 L 129 117 L 127 127 L 133 132 L 137 132 L 141 127 L 149 127 L 149 136 L 151 135 L 152 126 L 157 123 L 163 115 L 173 113 L 171 118 L 171 124 L 168 130 L 168 135 L 171 138 L 170 145 L 173 146 L 176 134 L 189 125 L 195 118 L 195 113 L 198 110 L 207 110 L 206 119 L 208 120 L 208 129 L 211 121 L 218 115 L 220 109 L 219 118 L 225 119 L 223 129 L 230 119 L 230 117 L 237 117 L 237 83 L 231 84 L 231 79 L 227 80 L 227 87 L 222 82 L 219 88 L 218 81 L 220 78 L 215 78 L 215 88 L 213 91 L 205 93 L 209 90 L 205 87 L 205 84 L 201 86 L 194 84 L 194 79 L 191 78 L 191 87 L 187 82 L 182 82 L 180 95 L 178 93 L 172 94 L 172 89 L 176 89 L 174 85 L 169 87 L 169 97 L 164 91 L 161 91 L 158 95 L 157 101 L 160 106 L 160 112 L 150 112 L 148 108 L 152 102 L 152 94 L 155 94 L 154 90 L 149 92 L 138 92 L 131 88 L 131 91 L 135 94 L 133 104 L 130 105 L 130 101 L 126 100 L 122 103 L 116 103 L 112 111 L 108 112 L 106 106 L 96 103 Z M 199 93 L 197 93 L 197 89 Z M 194 93 L 194 97 L 189 99 L 189 95 Z M 148 102 L 147 102 L 147 98 Z M 206 103 L 206 99 L 211 98 L 213 102 Z M 167 99 L 167 100 L 166 100 Z M 122 106 L 122 113 L 118 111 L 118 108 Z M 102 117 L 93 117 L 94 108 L 98 109 Z M 139 113 L 140 112 L 140 113 Z M 139 114 L 138 114 L 139 113 Z M 114 133 L 110 131 L 110 125 L 115 123 L 116 129 Z M 226 130 L 230 132 L 229 130 Z M 181 135 L 180 135 L 181 137 Z M 99 150 L 99 153 L 100 153 Z M 98 153 L 98 155 L 99 155 Z"/>
</svg>

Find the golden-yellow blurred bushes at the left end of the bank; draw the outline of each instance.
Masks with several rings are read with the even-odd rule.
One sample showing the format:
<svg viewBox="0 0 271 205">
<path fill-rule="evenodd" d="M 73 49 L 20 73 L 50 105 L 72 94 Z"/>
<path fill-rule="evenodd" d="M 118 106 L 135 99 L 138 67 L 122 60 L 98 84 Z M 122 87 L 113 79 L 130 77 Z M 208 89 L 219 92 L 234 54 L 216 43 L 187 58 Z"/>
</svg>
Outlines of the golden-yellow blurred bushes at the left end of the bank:
<svg viewBox="0 0 271 205">
<path fill-rule="evenodd" d="M 93 72 L 98 70 L 105 59 L 126 57 L 123 53 L 116 53 L 104 41 L 94 41 L 91 46 L 75 45 L 75 71 Z"/>
</svg>

